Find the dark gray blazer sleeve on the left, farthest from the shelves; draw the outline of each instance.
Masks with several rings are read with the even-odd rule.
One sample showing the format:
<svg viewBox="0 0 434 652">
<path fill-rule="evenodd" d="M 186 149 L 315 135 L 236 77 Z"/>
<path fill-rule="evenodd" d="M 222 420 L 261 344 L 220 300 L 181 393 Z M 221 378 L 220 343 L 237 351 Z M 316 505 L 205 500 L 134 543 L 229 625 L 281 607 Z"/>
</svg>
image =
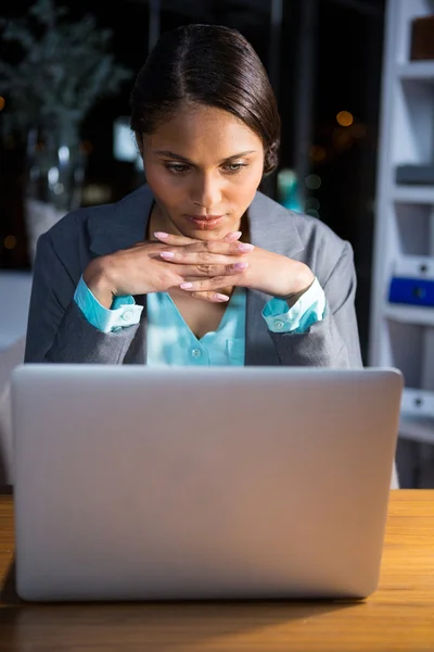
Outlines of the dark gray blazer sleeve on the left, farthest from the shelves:
<svg viewBox="0 0 434 652">
<path fill-rule="evenodd" d="M 76 302 L 76 281 L 58 255 L 50 233 L 38 240 L 25 362 L 122 364 L 139 325 L 101 333 Z"/>
</svg>

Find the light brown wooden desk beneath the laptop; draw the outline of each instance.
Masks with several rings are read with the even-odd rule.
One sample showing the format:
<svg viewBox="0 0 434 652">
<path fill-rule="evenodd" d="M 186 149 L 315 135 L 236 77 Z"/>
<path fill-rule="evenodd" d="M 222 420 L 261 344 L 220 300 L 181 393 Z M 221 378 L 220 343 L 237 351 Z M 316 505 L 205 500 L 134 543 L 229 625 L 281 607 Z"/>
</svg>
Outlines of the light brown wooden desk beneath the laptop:
<svg viewBox="0 0 434 652">
<path fill-rule="evenodd" d="M 26 605 L 12 557 L 12 499 L 0 497 L 1 652 L 434 650 L 434 490 L 392 492 L 380 588 L 358 603 Z"/>
</svg>

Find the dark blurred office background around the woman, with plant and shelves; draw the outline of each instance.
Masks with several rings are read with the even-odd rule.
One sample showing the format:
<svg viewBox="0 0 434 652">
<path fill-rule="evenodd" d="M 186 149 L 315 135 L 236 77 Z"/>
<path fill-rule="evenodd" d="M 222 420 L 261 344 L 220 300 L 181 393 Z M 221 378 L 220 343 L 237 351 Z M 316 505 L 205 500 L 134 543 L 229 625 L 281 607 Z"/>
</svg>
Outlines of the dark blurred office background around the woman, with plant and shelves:
<svg viewBox="0 0 434 652">
<path fill-rule="evenodd" d="M 434 55 L 430 47 L 418 54 L 411 32 L 414 17 L 426 21 L 433 14 L 431 0 L 3 2 L 0 351 L 25 333 L 38 235 L 77 205 L 116 201 L 143 183 L 128 126 L 129 92 L 159 33 L 191 22 L 237 27 L 261 58 L 282 117 L 280 167 L 263 190 L 288 208 L 319 217 L 350 241 L 363 362 L 399 362 L 406 373 L 409 363 L 409 390 L 419 392 L 407 396 L 406 423 L 412 425 L 407 430 L 403 426 L 399 442 L 401 484 L 434 486 L 434 379 L 430 369 L 414 371 L 411 362 L 416 355 L 420 366 L 431 351 L 424 347 L 433 339 L 433 312 L 424 305 L 423 317 L 417 318 L 412 306 L 410 313 L 395 315 L 391 328 L 385 311 L 392 298 L 385 298 L 384 289 L 396 258 L 424 256 L 426 265 L 434 255 L 431 244 L 422 246 L 426 234 L 434 238 L 434 179 L 423 181 L 424 202 L 411 192 L 404 197 L 396 224 L 404 221 L 406 226 L 394 251 L 390 242 L 397 230 L 395 217 L 388 221 L 390 233 L 379 227 L 396 208 L 390 190 L 396 164 L 429 166 L 434 159 Z M 423 29 L 422 42 L 426 23 Z M 432 21 L 427 29 L 427 41 L 432 37 L 434 42 Z M 409 67 L 407 77 L 398 65 Z M 397 88 L 400 78 L 406 82 Z M 416 140 L 412 115 L 423 115 L 426 123 Z M 396 153 L 393 141 L 400 138 L 404 149 Z M 413 190 L 419 181 L 411 183 Z M 420 249 L 408 248 L 403 235 L 413 229 L 414 220 L 423 223 Z M 407 272 L 401 276 L 411 277 Z M 399 353 L 394 358 L 395 344 L 399 351 L 408 348 L 410 362 Z M 429 405 L 422 415 L 418 400 Z M 422 438 L 414 435 L 420 428 Z"/>
</svg>

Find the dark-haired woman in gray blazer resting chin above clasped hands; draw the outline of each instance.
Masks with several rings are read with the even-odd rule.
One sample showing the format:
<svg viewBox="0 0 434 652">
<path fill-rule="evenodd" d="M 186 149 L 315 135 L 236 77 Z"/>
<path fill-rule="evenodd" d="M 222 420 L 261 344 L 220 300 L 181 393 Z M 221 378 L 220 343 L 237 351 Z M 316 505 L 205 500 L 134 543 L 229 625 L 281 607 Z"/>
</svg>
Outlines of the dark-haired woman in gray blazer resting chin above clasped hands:
<svg viewBox="0 0 434 652">
<path fill-rule="evenodd" d="M 250 43 L 163 35 L 131 127 L 148 185 L 39 239 L 26 362 L 361 365 L 349 243 L 257 191 L 280 120 Z"/>
</svg>

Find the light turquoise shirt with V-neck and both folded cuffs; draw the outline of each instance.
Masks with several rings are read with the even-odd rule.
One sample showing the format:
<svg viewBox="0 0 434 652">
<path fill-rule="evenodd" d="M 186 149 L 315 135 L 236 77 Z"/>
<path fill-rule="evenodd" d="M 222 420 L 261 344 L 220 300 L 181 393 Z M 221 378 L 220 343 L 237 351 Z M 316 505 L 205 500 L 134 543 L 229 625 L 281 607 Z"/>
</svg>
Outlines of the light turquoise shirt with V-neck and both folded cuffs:
<svg viewBox="0 0 434 652">
<path fill-rule="evenodd" d="M 111 310 L 95 299 L 80 278 L 74 300 L 87 321 L 102 333 L 128 328 L 140 322 L 143 306 L 132 297 L 116 297 Z M 235 288 L 215 331 L 197 339 L 166 292 L 146 296 L 148 360 L 157 365 L 243 365 L 245 351 L 246 291 Z M 263 310 L 267 327 L 273 333 L 306 333 L 323 318 L 326 296 L 315 279 L 298 301 L 289 308 L 283 299 L 270 299 Z"/>
</svg>

